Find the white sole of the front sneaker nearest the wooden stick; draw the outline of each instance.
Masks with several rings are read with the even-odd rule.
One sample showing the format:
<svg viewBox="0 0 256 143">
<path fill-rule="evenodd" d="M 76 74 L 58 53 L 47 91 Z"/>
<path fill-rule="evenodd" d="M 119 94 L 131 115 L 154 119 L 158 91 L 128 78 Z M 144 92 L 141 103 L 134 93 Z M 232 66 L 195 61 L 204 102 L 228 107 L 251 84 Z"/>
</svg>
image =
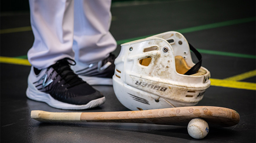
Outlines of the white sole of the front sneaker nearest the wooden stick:
<svg viewBox="0 0 256 143">
<path fill-rule="evenodd" d="M 30 81 L 28 81 L 28 82 L 29 83 L 28 83 L 28 87 L 26 90 L 26 96 L 29 99 L 32 99 L 35 101 L 45 102 L 49 106 L 52 106 L 54 108 L 66 109 L 66 110 L 82 110 L 82 109 L 89 109 L 89 108 L 97 107 L 105 102 L 105 97 L 92 100 L 89 103 L 84 104 L 84 105 L 75 105 L 75 104 L 60 102 L 60 101 L 54 99 L 51 95 L 37 90 L 35 88 L 35 86 L 33 86 L 33 83 L 31 83 Z"/>
</svg>

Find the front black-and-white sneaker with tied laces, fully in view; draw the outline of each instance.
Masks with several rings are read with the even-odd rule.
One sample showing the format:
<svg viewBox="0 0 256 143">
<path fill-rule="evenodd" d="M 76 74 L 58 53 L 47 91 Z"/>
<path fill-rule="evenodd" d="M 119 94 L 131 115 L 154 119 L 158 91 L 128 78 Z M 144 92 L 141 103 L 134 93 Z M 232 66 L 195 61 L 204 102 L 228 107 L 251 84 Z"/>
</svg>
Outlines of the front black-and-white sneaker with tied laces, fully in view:
<svg viewBox="0 0 256 143">
<path fill-rule="evenodd" d="M 99 106 L 105 97 L 70 69 L 75 61 L 64 58 L 38 70 L 31 67 L 26 95 L 59 109 L 81 110 Z"/>
</svg>

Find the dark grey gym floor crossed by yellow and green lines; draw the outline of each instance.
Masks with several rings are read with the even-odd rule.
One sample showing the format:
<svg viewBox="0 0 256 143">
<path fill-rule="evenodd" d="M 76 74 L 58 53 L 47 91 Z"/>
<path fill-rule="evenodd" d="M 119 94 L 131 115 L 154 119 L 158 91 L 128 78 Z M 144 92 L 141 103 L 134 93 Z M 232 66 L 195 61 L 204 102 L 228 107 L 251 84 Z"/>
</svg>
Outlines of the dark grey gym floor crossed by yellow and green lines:
<svg viewBox="0 0 256 143">
<path fill-rule="evenodd" d="M 203 56 L 202 66 L 211 72 L 212 84 L 197 105 L 234 109 L 240 114 L 240 123 L 228 128 L 210 127 L 207 137 L 196 140 L 189 136 L 187 127 L 179 126 L 130 123 L 46 124 L 33 120 L 30 118 L 31 110 L 70 110 L 54 109 L 45 103 L 26 98 L 30 66 L 22 65 L 16 58 L 26 58 L 33 44 L 29 11 L 2 12 L 1 143 L 255 143 L 255 1 L 125 1 L 113 2 L 111 11 L 113 20 L 110 31 L 119 44 L 115 55 L 118 55 L 123 42 L 166 31 L 181 32 L 198 48 Z M 14 62 L 4 60 L 6 57 Z M 233 79 L 226 79 L 228 77 Z M 107 101 L 97 108 L 82 112 L 129 111 L 115 97 L 112 86 L 94 87 L 105 95 Z"/>
</svg>

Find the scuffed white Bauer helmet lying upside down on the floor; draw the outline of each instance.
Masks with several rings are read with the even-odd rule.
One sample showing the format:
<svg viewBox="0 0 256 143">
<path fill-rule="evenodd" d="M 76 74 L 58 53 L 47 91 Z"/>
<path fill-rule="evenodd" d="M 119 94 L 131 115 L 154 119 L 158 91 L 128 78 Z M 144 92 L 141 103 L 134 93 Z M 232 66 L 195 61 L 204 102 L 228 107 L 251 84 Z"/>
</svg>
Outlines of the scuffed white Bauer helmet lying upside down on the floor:
<svg viewBox="0 0 256 143">
<path fill-rule="evenodd" d="M 121 46 L 114 62 L 113 88 L 118 100 L 130 110 L 193 106 L 210 86 L 210 72 L 201 67 L 201 54 L 179 32 Z M 190 50 L 198 63 L 193 63 Z"/>
</svg>

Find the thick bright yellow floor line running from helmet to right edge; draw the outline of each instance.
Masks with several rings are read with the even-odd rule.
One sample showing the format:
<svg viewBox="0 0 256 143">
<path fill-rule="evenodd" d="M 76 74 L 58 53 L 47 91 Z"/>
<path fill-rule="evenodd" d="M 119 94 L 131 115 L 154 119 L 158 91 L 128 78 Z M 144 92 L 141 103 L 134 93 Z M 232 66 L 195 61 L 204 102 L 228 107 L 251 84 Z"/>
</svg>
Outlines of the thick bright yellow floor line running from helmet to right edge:
<svg viewBox="0 0 256 143">
<path fill-rule="evenodd" d="M 211 86 L 256 90 L 255 83 L 239 82 L 239 81 L 232 81 L 232 80 L 220 80 L 220 79 L 214 79 L 214 78 L 210 78 L 210 81 L 211 81 Z"/>
</svg>

